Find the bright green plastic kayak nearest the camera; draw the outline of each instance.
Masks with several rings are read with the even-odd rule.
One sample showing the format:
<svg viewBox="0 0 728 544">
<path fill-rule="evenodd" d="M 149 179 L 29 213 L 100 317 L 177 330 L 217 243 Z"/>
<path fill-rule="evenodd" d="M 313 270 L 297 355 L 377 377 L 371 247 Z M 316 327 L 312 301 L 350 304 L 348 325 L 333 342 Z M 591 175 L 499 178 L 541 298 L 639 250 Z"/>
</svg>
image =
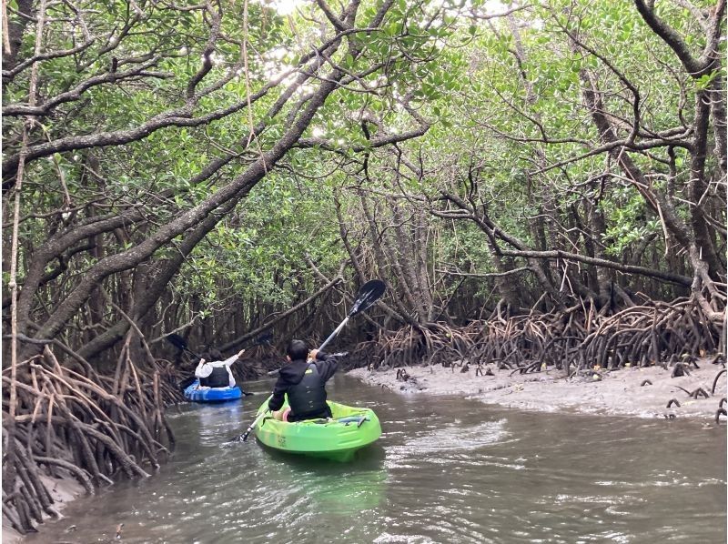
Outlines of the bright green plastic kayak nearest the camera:
<svg viewBox="0 0 728 544">
<path fill-rule="evenodd" d="M 288 423 L 269 414 L 258 422 L 256 437 L 269 448 L 310 457 L 349 461 L 354 453 L 381 436 L 379 418 L 370 408 L 328 401 L 332 418 Z M 288 403 L 284 408 L 288 407 Z M 268 400 L 258 416 L 268 410 Z"/>
</svg>

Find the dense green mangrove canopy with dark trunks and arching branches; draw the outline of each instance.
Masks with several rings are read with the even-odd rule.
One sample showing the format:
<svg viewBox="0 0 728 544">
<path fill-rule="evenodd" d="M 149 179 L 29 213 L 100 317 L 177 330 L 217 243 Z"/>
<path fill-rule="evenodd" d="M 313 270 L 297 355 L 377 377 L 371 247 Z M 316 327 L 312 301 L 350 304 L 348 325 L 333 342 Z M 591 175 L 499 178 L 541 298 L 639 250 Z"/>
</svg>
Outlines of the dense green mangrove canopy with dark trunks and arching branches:
<svg viewBox="0 0 728 544">
<path fill-rule="evenodd" d="M 720 319 L 723 16 L 10 2 L 4 323 L 15 306 L 19 334 L 106 358 L 130 321 L 244 339 L 373 276 L 389 328 L 501 299 L 691 295 Z M 323 305 L 323 334 L 344 311 L 327 297 L 278 327 Z"/>
</svg>

